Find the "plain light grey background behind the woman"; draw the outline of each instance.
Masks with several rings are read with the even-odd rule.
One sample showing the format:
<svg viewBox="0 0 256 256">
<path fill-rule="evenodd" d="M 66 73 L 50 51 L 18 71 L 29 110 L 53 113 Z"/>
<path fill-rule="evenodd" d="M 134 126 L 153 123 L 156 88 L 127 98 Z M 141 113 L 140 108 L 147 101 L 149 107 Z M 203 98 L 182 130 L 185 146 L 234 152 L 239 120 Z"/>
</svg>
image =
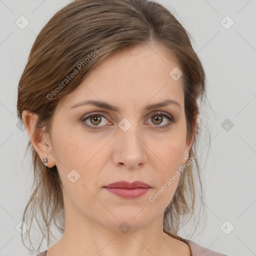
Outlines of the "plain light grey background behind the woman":
<svg viewBox="0 0 256 256">
<path fill-rule="evenodd" d="M 36 34 L 57 10 L 69 2 L 0 0 L 2 256 L 28 255 L 15 228 L 21 221 L 32 185 L 31 159 L 24 157 L 28 135 L 16 126 L 18 80 Z M 192 44 L 206 71 L 207 95 L 212 107 L 209 112 L 211 149 L 202 173 L 207 219 L 200 235 L 183 237 L 227 255 L 256 255 L 256 1 L 158 2 L 171 9 L 193 37 Z M 24 29 L 15 24 L 21 15 L 29 21 Z M 232 21 L 224 18 L 226 15 L 234 21 L 228 29 Z M 228 129 L 224 126 L 226 124 Z M 208 141 L 204 140 L 202 147 L 207 144 Z M 224 223 L 226 220 L 228 222 Z M 232 226 L 234 229 L 230 232 Z M 184 234 L 186 228 L 182 230 Z M 34 244 L 37 245 L 36 239 Z M 43 247 L 47 248 L 45 242 Z"/>
</svg>

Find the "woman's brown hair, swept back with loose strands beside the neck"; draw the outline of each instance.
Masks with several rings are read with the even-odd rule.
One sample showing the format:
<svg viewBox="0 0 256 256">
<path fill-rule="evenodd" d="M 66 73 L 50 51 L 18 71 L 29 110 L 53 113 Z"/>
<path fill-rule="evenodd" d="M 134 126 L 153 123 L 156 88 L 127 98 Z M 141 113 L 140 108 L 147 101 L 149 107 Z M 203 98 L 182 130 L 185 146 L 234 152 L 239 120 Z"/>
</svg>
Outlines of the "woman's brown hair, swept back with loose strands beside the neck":
<svg viewBox="0 0 256 256">
<path fill-rule="evenodd" d="M 197 99 L 202 100 L 205 96 L 204 70 L 192 48 L 188 32 L 167 8 L 150 0 L 75 0 L 57 11 L 37 35 L 20 77 L 18 118 L 22 120 L 25 109 L 35 112 L 38 114 L 36 128 L 45 127 L 45 132 L 50 134 L 53 112 L 59 100 L 75 90 L 93 67 L 118 50 L 152 42 L 165 47 L 183 72 L 186 138 L 190 140 L 194 133 L 190 159 L 196 152 L 200 131 L 197 123 L 195 130 L 192 127 L 196 114 L 200 113 Z M 81 65 L 79 69 L 77 66 Z M 66 81 L 67 75 L 74 70 L 77 74 Z M 32 153 L 35 187 L 22 220 L 30 221 L 26 233 L 30 245 L 29 233 L 35 219 L 42 240 L 45 237 L 49 246 L 52 221 L 60 232 L 64 230 L 62 184 L 56 166 L 44 166 L 30 140 L 26 149 L 28 147 Z M 194 159 L 181 172 L 173 198 L 164 211 L 163 231 L 175 238 L 179 239 L 177 232 L 181 224 L 186 224 L 194 213 L 195 197 L 203 202 L 199 172 L 198 161 Z M 194 182 L 196 177 L 198 192 Z M 36 215 L 38 212 L 42 223 Z"/>
</svg>

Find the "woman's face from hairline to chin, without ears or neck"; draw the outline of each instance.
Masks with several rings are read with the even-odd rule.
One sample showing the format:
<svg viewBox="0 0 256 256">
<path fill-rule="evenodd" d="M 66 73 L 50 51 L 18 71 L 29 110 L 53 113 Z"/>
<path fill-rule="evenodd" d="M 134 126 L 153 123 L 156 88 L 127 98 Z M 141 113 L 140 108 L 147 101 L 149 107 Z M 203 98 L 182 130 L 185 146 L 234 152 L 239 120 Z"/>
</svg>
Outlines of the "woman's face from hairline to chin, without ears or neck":
<svg viewBox="0 0 256 256">
<path fill-rule="evenodd" d="M 126 221 L 135 230 L 171 201 L 190 145 L 180 67 L 166 56 L 158 44 L 115 53 L 59 102 L 47 157 L 63 183 L 66 216 L 116 230 Z M 80 104 L 87 100 L 102 106 Z M 176 103 L 153 107 L 167 100 Z M 150 188 L 105 187 L 117 181 L 142 181 Z"/>
</svg>

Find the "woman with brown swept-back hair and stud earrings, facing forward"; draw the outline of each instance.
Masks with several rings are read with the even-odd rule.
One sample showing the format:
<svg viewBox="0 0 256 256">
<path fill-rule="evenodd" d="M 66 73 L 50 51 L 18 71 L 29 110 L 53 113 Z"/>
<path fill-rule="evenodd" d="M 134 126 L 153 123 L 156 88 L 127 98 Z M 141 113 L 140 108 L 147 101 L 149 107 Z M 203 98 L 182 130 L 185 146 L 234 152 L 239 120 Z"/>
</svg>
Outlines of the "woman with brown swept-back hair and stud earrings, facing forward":
<svg viewBox="0 0 256 256">
<path fill-rule="evenodd" d="M 48 244 L 52 221 L 63 233 L 38 255 L 224 255 L 177 235 L 194 212 L 194 175 L 201 187 L 203 96 L 188 34 L 159 3 L 60 9 L 18 86 L 36 184 L 23 221 L 39 212 Z"/>
</svg>

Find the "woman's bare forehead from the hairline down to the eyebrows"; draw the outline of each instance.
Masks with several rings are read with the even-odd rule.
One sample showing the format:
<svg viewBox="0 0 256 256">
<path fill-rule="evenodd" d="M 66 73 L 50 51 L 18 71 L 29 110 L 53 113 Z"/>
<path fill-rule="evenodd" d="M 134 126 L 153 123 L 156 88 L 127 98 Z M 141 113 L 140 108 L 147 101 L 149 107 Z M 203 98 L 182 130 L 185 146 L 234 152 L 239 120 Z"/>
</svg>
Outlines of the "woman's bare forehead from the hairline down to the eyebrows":
<svg viewBox="0 0 256 256">
<path fill-rule="evenodd" d="M 182 76 L 169 72 L 180 66 L 160 44 L 136 46 L 115 52 L 84 77 L 78 88 L 62 101 L 65 108 L 81 100 L 114 102 L 120 108 L 173 98 L 183 105 Z"/>
</svg>

